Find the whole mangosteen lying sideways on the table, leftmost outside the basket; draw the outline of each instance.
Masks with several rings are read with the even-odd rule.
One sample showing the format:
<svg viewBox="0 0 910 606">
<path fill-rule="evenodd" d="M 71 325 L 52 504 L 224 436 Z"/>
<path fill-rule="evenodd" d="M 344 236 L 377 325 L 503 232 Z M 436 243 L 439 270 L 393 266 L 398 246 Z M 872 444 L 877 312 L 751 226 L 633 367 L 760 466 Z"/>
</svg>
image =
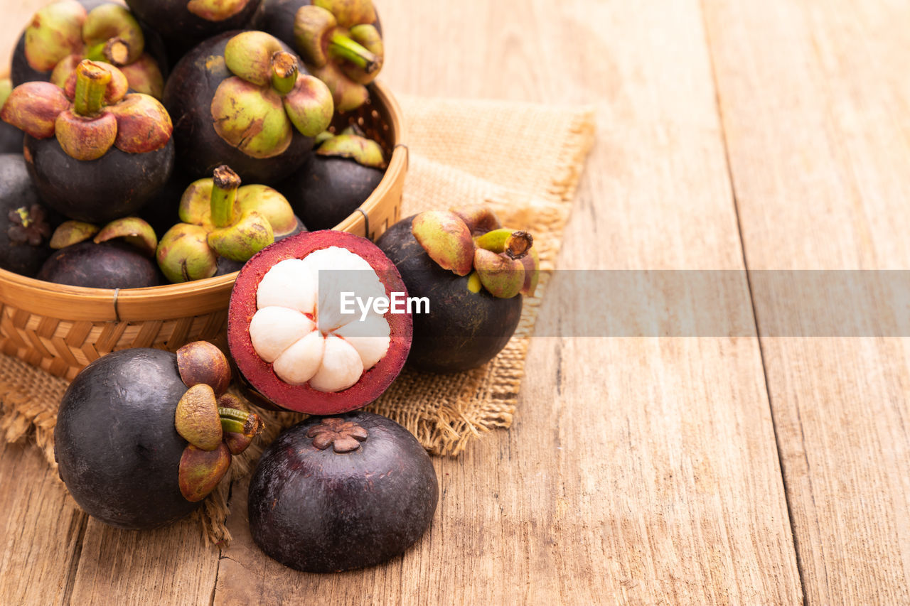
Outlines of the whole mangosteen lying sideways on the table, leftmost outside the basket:
<svg viewBox="0 0 910 606">
<path fill-rule="evenodd" d="M 225 393 L 230 368 L 205 341 L 177 353 L 121 349 L 66 389 L 54 429 L 60 479 L 90 516 L 144 530 L 201 504 L 262 429 Z"/>
</svg>

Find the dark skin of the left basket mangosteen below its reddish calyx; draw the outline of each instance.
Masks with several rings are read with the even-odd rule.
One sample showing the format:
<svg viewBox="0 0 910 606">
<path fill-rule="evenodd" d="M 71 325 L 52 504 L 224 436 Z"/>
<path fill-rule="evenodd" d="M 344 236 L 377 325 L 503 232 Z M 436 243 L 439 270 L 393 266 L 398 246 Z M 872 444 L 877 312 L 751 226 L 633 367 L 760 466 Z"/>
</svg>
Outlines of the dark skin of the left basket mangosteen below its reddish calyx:
<svg viewBox="0 0 910 606">
<path fill-rule="evenodd" d="M 56 137 L 25 136 L 25 162 L 45 203 L 77 221 L 103 224 L 133 215 L 167 185 L 174 138 L 156 151 L 127 154 L 116 147 L 97 160 L 69 157 Z"/>
</svg>

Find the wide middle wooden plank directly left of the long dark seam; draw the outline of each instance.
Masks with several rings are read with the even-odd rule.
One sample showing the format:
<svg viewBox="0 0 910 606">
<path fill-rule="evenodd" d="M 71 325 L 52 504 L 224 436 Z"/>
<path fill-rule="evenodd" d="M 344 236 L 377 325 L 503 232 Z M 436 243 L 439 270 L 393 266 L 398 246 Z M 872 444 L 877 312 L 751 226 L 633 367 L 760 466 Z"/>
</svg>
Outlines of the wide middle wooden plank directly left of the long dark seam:
<svg viewBox="0 0 910 606">
<path fill-rule="evenodd" d="M 697 2 L 379 8 L 395 91 L 597 104 L 561 268 L 743 268 Z M 801 600 L 757 338 L 537 339 L 512 429 L 434 464 L 430 532 L 339 575 L 269 561 L 235 486 L 216 602 Z"/>
</svg>

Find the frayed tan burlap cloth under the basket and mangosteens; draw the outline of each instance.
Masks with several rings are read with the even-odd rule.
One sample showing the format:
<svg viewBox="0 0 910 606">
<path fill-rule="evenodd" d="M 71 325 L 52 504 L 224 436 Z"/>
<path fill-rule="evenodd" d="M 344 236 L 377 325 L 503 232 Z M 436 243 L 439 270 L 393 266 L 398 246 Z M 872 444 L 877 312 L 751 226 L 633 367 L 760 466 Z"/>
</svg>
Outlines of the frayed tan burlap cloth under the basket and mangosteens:
<svg viewBox="0 0 910 606">
<path fill-rule="evenodd" d="M 575 187 L 591 148 L 590 108 L 501 101 L 401 97 L 408 123 L 410 168 L 402 217 L 428 208 L 486 203 L 508 227 L 534 236 L 541 269 L 553 268 Z M 501 354 L 486 366 L 454 375 L 406 369 L 369 409 L 408 428 L 430 453 L 454 456 L 490 429 L 511 425 L 524 374 L 528 341 L 548 274 L 525 298 L 521 323 Z M 66 381 L 0 355 L 0 431 L 7 441 L 34 440 L 54 462 L 56 409 Z M 225 543 L 230 480 L 255 466 L 262 448 L 301 415 L 259 411 L 267 429 L 235 457 L 198 515 L 207 540 Z"/>
</svg>

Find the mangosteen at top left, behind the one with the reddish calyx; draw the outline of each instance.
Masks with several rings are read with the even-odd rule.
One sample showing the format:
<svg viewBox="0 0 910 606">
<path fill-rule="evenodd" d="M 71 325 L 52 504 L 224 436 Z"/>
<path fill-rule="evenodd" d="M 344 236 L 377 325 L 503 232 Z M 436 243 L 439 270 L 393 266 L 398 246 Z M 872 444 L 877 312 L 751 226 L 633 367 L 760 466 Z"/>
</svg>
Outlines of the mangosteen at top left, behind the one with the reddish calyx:
<svg viewBox="0 0 910 606">
<path fill-rule="evenodd" d="M 65 86 L 83 59 L 119 67 L 133 92 L 164 92 L 167 61 L 158 36 L 123 5 L 97 0 L 56 0 L 39 9 L 15 46 L 13 84 Z"/>
</svg>

